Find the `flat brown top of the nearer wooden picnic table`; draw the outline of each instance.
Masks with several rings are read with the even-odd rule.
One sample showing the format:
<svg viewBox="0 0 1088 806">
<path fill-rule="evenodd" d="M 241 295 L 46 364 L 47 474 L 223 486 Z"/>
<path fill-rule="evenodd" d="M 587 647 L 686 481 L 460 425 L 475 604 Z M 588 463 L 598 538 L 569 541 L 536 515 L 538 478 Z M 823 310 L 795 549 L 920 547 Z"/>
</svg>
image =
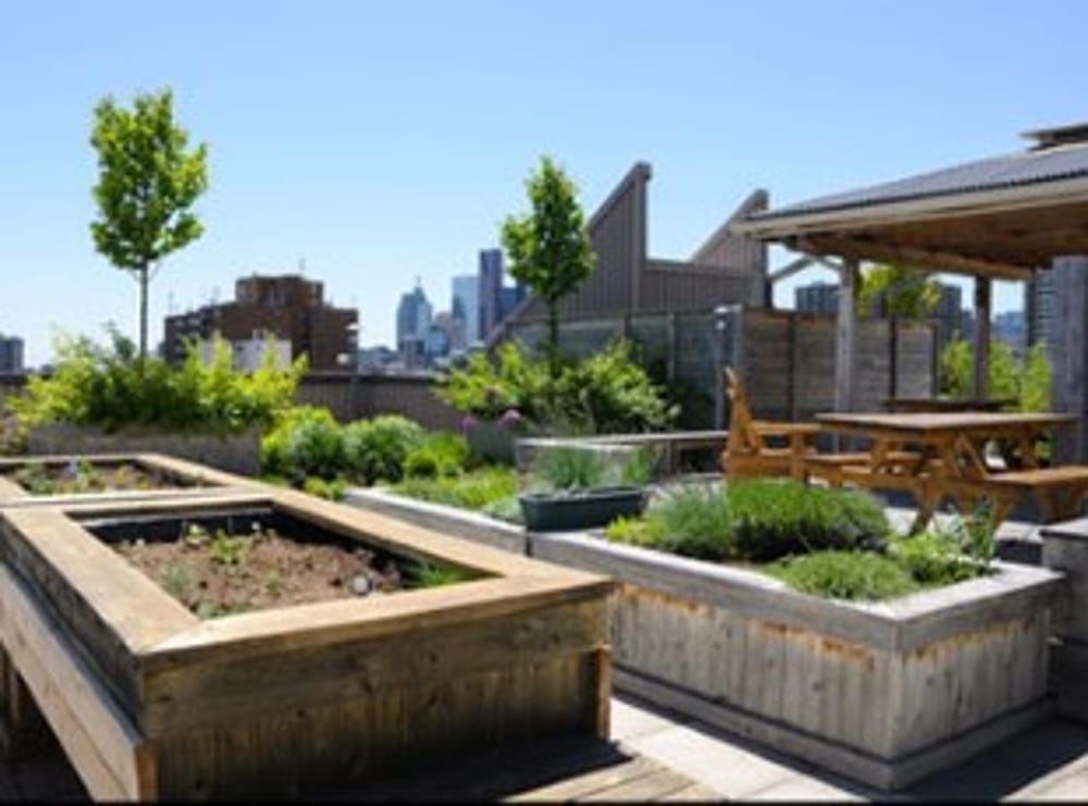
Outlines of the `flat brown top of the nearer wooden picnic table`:
<svg viewBox="0 0 1088 806">
<path fill-rule="evenodd" d="M 1073 414 L 1055 412 L 1005 413 L 993 411 L 940 412 L 827 412 L 816 414 L 816 421 L 829 431 L 854 433 L 898 433 L 911 436 L 965 434 L 1001 434 L 1024 429 L 1039 431 L 1076 422 Z"/>
</svg>

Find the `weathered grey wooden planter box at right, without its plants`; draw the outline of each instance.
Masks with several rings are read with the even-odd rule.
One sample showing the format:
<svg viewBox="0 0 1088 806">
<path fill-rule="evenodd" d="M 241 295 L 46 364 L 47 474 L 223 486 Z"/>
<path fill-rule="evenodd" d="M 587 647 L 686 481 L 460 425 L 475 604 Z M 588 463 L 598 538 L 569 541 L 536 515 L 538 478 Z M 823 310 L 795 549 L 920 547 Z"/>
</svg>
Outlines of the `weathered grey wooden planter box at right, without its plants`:
<svg viewBox="0 0 1088 806">
<path fill-rule="evenodd" d="M 852 604 L 586 533 L 529 541 L 534 557 L 617 579 L 617 689 L 870 785 L 905 785 L 1050 712 L 1061 575 L 1047 569 L 998 562 Z"/>
</svg>

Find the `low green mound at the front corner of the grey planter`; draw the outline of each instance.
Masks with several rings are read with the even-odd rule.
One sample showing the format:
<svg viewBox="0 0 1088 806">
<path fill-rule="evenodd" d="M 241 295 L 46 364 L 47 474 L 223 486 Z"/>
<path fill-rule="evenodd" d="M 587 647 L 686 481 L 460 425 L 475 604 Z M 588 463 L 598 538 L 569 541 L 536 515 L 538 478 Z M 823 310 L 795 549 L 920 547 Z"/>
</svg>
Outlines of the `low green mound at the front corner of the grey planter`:
<svg viewBox="0 0 1088 806">
<path fill-rule="evenodd" d="M 816 551 L 765 570 L 795 591 L 836 599 L 890 599 L 918 590 L 904 568 L 875 551 Z"/>
</svg>

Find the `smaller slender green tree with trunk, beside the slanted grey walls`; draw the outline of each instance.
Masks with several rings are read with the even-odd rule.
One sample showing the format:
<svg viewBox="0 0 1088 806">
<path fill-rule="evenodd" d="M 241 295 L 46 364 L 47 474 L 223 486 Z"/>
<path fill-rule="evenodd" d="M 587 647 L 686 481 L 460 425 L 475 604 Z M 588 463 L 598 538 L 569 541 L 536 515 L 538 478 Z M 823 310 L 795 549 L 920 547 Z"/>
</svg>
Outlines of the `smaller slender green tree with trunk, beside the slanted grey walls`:
<svg viewBox="0 0 1088 806">
<path fill-rule="evenodd" d="M 559 375 L 559 300 L 593 272 L 596 256 L 590 244 L 578 189 L 551 159 L 526 182 L 532 212 L 510 215 L 503 224 L 503 246 L 510 256 L 510 275 L 527 283 L 548 312 L 548 375 Z"/>
</svg>

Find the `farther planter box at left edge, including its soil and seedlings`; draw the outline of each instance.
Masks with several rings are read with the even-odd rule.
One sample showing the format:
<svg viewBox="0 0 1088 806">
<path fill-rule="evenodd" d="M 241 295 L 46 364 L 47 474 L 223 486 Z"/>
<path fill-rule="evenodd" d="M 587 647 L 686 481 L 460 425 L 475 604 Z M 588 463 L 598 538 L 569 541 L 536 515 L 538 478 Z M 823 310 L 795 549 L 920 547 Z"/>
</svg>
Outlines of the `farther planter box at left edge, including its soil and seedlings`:
<svg viewBox="0 0 1088 806">
<path fill-rule="evenodd" d="M 154 454 L 0 459 L 0 505 L 207 495 L 247 481 Z"/>
</svg>

